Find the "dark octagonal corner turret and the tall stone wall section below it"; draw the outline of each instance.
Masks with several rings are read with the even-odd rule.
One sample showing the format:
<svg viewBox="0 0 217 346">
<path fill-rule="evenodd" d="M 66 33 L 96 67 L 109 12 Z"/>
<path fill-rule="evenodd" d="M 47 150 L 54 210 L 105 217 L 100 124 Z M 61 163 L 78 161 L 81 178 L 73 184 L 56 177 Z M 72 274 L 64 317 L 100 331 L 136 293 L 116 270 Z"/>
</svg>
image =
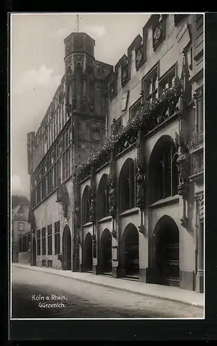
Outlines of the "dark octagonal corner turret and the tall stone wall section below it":
<svg viewBox="0 0 217 346">
<path fill-rule="evenodd" d="M 95 60 L 95 41 L 85 33 L 71 33 L 64 44 L 66 109 L 73 118 L 73 164 L 77 164 L 105 140 L 105 81 L 112 66 Z"/>
</svg>

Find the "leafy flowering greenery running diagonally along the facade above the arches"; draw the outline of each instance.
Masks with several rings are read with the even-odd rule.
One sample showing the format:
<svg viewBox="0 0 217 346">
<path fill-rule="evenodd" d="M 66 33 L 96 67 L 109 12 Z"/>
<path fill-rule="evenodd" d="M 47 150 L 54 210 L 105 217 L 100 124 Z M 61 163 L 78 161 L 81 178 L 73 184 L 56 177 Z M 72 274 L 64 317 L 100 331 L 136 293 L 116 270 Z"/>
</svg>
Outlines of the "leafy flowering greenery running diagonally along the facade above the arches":
<svg viewBox="0 0 217 346">
<path fill-rule="evenodd" d="M 80 163 L 80 165 L 77 167 L 78 174 L 82 174 L 87 167 L 93 166 L 103 156 L 110 154 L 115 149 L 116 144 L 118 144 L 120 141 L 130 140 L 132 134 L 137 136 L 139 129 L 142 129 L 144 132 L 146 132 L 146 130 L 148 131 L 148 125 L 150 122 L 155 121 L 155 119 L 157 120 L 157 117 L 162 112 L 162 109 L 169 104 L 173 104 L 174 100 L 178 99 L 181 94 L 182 81 L 179 78 L 176 78 L 171 88 L 165 89 L 162 95 L 152 102 L 141 105 L 141 109 L 137 116 L 128 120 L 125 127 L 122 127 L 116 134 L 112 134 L 112 136 L 105 140 L 103 145 L 92 153 L 86 161 Z"/>
</svg>

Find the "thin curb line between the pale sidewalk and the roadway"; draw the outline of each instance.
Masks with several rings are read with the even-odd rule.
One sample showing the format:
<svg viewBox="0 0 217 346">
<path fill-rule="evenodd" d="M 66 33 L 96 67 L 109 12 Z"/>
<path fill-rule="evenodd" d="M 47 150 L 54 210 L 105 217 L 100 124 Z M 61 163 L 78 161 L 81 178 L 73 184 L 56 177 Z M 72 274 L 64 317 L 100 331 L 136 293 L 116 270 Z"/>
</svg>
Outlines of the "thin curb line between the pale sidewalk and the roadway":
<svg viewBox="0 0 217 346">
<path fill-rule="evenodd" d="M 103 284 L 101 282 L 92 282 L 92 281 L 88 281 L 86 279 L 83 279 L 83 278 L 79 278 L 78 277 L 69 277 L 67 275 L 64 275 L 62 273 L 51 273 L 49 271 L 40 271 L 38 269 L 35 269 L 35 267 L 33 266 L 30 266 L 29 268 L 26 268 L 26 267 L 23 267 L 23 266 L 19 266 L 19 264 L 12 264 L 12 266 L 16 266 L 17 268 L 23 268 L 23 269 L 27 269 L 27 270 L 32 270 L 32 271 L 38 271 L 38 272 L 42 272 L 42 273 L 47 273 L 47 274 L 53 274 L 53 275 L 58 275 L 58 276 L 62 276 L 62 277 L 65 277 L 67 279 L 70 279 L 70 280 L 76 280 L 76 281 L 83 281 L 83 282 L 87 282 L 88 284 L 93 284 L 93 285 L 98 285 L 98 286 L 103 286 L 103 287 L 107 287 L 109 289 L 117 289 L 119 291 L 125 291 L 125 292 L 130 292 L 130 293 L 134 293 L 134 294 L 139 294 L 139 295 L 146 295 L 146 297 L 153 297 L 153 298 L 158 298 L 160 300 L 168 300 L 170 302 L 178 302 L 178 303 L 182 303 L 182 304 L 185 304 L 185 305 L 190 305 L 190 306 L 193 306 L 193 302 L 184 302 L 183 300 L 179 300 L 179 299 L 175 299 L 175 298 L 168 298 L 168 297 L 162 297 L 161 295 L 156 295 L 156 294 L 151 294 L 151 293 L 141 293 L 141 292 L 137 292 L 137 291 L 133 291 L 132 289 L 125 289 L 125 288 L 121 288 L 121 287 L 114 287 L 114 286 L 111 286 L 109 284 Z M 203 304 L 196 304 L 195 305 L 196 307 L 199 307 L 200 309 L 204 309 L 204 305 Z"/>
</svg>

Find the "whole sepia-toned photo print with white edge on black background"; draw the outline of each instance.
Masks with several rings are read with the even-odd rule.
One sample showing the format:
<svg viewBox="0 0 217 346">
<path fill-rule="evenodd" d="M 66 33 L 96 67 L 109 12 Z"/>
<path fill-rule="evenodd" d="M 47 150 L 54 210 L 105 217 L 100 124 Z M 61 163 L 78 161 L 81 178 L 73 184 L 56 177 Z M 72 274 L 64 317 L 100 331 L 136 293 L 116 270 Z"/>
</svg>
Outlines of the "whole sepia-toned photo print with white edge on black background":
<svg viewBox="0 0 217 346">
<path fill-rule="evenodd" d="M 10 319 L 205 318 L 205 14 L 10 14 Z"/>
</svg>

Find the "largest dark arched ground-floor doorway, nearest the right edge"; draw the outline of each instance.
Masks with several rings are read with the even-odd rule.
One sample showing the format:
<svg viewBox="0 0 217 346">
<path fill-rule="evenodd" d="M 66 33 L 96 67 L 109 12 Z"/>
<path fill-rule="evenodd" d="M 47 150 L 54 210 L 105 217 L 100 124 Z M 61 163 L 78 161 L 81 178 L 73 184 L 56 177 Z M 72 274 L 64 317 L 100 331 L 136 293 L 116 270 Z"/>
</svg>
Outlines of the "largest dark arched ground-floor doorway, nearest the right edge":
<svg viewBox="0 0 217 346">
<path fill-rule="evenodd" d="M 156 239 L 158 282 L 166 286 L 180 286 L 179 230 L 171 217 L 159 220 Z"/>
</svg>

